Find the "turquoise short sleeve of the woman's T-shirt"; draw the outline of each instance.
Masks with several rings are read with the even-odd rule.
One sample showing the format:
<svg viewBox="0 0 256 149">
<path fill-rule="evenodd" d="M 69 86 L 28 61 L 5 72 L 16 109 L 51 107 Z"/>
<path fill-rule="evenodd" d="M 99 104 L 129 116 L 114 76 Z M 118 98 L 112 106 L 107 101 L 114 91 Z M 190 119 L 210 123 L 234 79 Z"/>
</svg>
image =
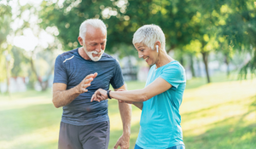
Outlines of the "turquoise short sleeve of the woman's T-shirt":
<svg viewBox="0 0 256 149">
<path fill-rule="evenodd" d="M 167 66 L 160 77 L 170 83 L 174 89 L 177 89 L 179 84 L 185 83 L 184 69 L 183 66 L 179 65 Z"/>
</svg>

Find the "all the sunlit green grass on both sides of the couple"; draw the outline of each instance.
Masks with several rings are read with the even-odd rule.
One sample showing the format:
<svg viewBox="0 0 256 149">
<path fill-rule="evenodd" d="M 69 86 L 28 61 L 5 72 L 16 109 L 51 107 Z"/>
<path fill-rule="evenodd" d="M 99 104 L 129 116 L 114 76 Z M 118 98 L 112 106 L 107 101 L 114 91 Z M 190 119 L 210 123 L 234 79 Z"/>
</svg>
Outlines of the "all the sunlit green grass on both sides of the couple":
<svg viewBox="0 0 256 149">
<path fill-rule="evenodd" d="M 180 107 L 183 140 L 188 149 L 256 148 L 256 79 L 217 75 L 189 80 Z M 128 89 L 145 83 L 129 82 Z M 0 95 L 0 148 L 55 149 L 61 108 L 51 103 L 51 90 Z M 135 145 L 141 111 L 132 106 L 131 147 Z M 118 103 L 109 100 L 110 142 L 122 135 Z"/>
</svg>

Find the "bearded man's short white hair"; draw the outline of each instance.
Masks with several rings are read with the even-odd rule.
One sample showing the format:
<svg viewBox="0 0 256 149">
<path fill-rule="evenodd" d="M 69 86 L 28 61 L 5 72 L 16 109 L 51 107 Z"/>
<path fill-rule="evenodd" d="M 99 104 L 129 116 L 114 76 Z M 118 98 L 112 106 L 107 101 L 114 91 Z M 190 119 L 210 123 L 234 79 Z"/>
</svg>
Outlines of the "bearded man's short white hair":
<svg viewBox="0 0 256 149">
<path fill-rule="evenodd" d="M 102 32 L 107 35 L 107 26 L 104 24 L 102 20 L 99 20 L 99 19 L 84 20 L 84 22 L 81 24 L 79 28 L 79 37 L 82 37 L 83 40 L 85 39 L 85 34 L 86 34 L 88 25 L 96 28 L 100 28 Z"/>
</svg>

